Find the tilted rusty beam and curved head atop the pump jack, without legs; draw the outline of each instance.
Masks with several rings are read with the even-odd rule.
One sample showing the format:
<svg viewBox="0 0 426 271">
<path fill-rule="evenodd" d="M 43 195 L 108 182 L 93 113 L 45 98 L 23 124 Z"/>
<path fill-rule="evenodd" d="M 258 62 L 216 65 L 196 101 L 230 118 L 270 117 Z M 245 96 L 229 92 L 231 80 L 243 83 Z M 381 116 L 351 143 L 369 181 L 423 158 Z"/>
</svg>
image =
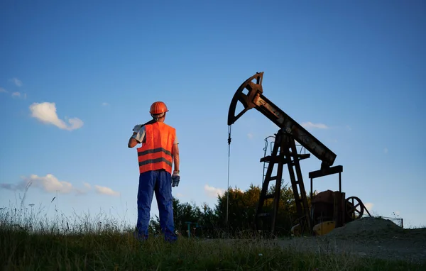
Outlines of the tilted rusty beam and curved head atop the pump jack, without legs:
<svg viewBox="0 0 426 271">
<path fill-rule="evenodd" d="M 256 83 L 253 82 L 254 79 L 256 79 Z M 317 138 L 312 136 L 305 128 L 293 120 L 293 118 L 290 118 L 290 116 L 285 114 L 278 106 L 273 104 L 272 101 L 269 101 L 266 96 L 263 96 L 262 79 L 263 72 L 256 72 L 256 74 L 246 79 L 237 89 L 231 100 L 231 105 L 229 106 L 228 125 L 235 123 L 235 121 L 249 109 L 255 108 L 273 121 L 278 127 L 290 133 L 300 145 L 320 159 L 322 161 L 322 167 L 332 166 L 336 159 L 336 155 L 332 150 L 329 150 L 320 140 L 317 140 Z M 249 91 L 247 94 L 243 93 L 245 89 Z M 244 109 L 235 116 L 236 104 L 238 101 L 243 104 Z"/>
</svg>

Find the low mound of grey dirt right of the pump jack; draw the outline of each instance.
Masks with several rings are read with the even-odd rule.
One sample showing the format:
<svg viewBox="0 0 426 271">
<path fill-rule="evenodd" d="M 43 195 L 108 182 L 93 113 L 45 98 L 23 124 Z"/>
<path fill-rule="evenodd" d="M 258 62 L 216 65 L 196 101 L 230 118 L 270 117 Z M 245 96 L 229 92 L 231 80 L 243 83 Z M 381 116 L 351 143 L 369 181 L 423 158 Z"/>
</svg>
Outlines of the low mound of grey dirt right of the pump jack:
<svg viewBox="0 0 426 271">
<path fill-rule="evenodd" d="M 400 231 L 403 231 L 403 228 L 400 228 L 388 219 L 367 216 L 346 223 L 345 226 L 334 228 L 327 236 L 359 236 L 380 233 L 398 233 Z"/>
</svg>

